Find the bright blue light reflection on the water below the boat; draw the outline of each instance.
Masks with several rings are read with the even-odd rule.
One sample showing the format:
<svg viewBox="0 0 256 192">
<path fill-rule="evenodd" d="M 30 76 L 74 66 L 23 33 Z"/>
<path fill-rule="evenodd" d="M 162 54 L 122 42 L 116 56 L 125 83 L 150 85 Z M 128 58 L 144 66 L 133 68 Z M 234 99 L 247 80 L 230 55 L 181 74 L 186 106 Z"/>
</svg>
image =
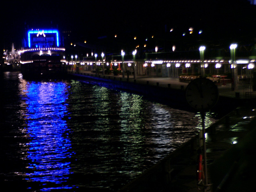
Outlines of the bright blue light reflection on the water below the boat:
<svg viewBox="0 0 256 192">
<path fill-rule="evenodd" d="M 48 186 L 51 182 L 61 184 L 70 175 L 71 142 L 66 121 L 67 85 L 63 82 L 29 82 L 26 86 L 27 127 L 29 135 L 26 159 L 27 180 L 42 182 L 42 191 L 71 188 L 64 185 Z"/>
</svg>

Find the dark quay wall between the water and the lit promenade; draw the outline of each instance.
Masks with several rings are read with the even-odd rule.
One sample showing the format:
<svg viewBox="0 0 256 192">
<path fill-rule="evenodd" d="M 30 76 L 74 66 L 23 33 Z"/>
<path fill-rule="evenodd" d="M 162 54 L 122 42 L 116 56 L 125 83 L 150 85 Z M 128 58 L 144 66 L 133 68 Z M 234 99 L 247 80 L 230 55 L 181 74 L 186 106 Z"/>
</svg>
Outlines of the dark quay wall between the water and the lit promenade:
<svg viewBox="0 0 256 192">
<path fill-rule="evenodd" d="M 161 104 L 166 104 L 172 108 L 186 110 L 190 112 L 194 111 L 186 102 L 185 90 L 184 88 L 174 89 L 166 86 L 157 86 L 150 84 L 142 84 L 134 81 L 133 79 L 127 81 L 125 78 L 114 77 L 113 78 L 104 78 L 104 77 L 96 77 L 95 75 L 82 75 L 82 74 L 69 74 L 70 78 L 77 79 L 80 81 L 85 81 L 86 83 L 90 82 L 91 84 L 97 84 L 99 86 L 104 86 L 113 90 L 123 90 L 135 94 L 139 94 L 144 96 L 147 100 L 152 102 L 158 102 Z M 212 109 L 213 112 L 218 114 L 217 118 L 220 118 L 234 110 L 238 106 L 245 104 L 246 100 L 235 97 L 226 97 L 219 96 L 218 103 Z"/>
</svg>

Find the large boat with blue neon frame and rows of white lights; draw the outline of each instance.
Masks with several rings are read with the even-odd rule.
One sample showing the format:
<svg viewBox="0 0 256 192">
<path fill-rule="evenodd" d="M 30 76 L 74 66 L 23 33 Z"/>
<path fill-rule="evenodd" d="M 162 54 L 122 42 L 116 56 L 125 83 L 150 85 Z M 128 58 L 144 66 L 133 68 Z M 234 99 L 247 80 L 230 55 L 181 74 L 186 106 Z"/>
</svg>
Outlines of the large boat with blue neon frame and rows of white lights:
<svg viewBox="0 0 256 192">
<path fill-rule="evenodd" d="M 65 48 L 57 29 L 28 30 L 20 50 L 23 76 L 59 76 L 66 73 Z"/>
</svg>

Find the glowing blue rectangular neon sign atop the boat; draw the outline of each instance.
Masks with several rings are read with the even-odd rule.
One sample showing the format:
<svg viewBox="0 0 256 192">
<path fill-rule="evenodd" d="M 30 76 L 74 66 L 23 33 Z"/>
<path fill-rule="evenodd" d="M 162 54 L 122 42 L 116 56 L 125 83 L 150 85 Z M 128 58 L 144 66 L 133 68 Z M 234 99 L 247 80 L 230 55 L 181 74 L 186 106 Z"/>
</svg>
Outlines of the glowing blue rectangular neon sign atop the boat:
<svg viewBox="0 0 256 192">
<path fill-rule="evenodd" d="M 31 46 L 60 46 L 58 30 L 28 30 L 28 47 Z"/>
</svg>

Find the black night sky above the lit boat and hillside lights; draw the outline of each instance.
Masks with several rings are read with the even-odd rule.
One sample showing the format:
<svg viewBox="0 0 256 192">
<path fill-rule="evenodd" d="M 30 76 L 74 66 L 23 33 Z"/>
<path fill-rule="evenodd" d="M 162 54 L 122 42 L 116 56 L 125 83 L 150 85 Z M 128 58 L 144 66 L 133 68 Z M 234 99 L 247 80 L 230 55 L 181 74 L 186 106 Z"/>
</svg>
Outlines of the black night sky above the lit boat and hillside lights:
<svg viewBox="0 0 256 192">
<path fill-rule="evenodd" d="M 72 30 L 77 38 L 114 33 L 166 32 L 202 28 L 208 38 L 255 33 L 255 6 L 246 0 L 84 0 L 3 3 L 2 46 L 21 46 L 29 28 Z M 254 8 L 252 8 L 254 7 Z"/>
</svg>

